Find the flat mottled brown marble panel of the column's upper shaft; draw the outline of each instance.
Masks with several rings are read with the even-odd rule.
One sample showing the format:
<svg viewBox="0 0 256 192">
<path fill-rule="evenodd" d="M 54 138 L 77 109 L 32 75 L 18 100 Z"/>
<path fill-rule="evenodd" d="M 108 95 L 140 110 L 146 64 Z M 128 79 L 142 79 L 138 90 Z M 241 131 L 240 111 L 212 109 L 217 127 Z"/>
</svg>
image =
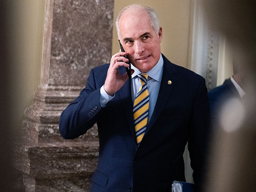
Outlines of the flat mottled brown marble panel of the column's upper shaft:
<svg viewBox="0 0 256 192">
<path fill-rule="evenodd" d="M 88 71 L 109 62 L 113 0 L 55 0 L 50 86 L 84 86 Z"/>
</svg>

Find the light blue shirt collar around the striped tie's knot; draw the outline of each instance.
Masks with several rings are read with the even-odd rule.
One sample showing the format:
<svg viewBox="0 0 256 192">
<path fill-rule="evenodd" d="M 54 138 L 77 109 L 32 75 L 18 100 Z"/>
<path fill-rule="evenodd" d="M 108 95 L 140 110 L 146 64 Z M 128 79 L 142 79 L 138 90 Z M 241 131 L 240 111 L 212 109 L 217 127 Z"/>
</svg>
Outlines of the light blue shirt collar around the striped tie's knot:
<svg viewBox="0 0 256 192">
<path fill-rule="evenodd" d="M 132 64 L 131 64 L 131 68 L 134 70 L 134 73 L 132 74 L 132 78 L 136 77 L 138 74 L 141 74 L 142 72 L 140 70 L 138 70 L 136 67 L 134 67 Z M 163 68 L 164 68 L 164 59 L 162 57 L 162 54 L 160 54 L 160 59 L 159 61 L 157 62 L 157 64 L 148 72 L 146 72 L 146 74 L 158 81 L 158 82 L 161 82 L 162 80 L 162 74 L 163 74 Z"/>
</svg>

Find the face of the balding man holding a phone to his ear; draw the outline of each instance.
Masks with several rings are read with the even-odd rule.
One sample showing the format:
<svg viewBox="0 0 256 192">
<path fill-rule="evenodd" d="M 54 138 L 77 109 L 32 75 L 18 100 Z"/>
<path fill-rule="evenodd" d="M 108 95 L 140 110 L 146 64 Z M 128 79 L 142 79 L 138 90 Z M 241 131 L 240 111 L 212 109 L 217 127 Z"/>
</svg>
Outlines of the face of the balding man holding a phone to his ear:
<svg viewBox="0 0 256 192">
<path fill-rule="evenodd" d="M 126 10 L 119 20 L 119 31 L 121 44 L 130 62 L 143 73 L 151 70 L 160 59 L 162 28 L 157 34 L 144 10 L 136 14 Z"/>
</svg>

